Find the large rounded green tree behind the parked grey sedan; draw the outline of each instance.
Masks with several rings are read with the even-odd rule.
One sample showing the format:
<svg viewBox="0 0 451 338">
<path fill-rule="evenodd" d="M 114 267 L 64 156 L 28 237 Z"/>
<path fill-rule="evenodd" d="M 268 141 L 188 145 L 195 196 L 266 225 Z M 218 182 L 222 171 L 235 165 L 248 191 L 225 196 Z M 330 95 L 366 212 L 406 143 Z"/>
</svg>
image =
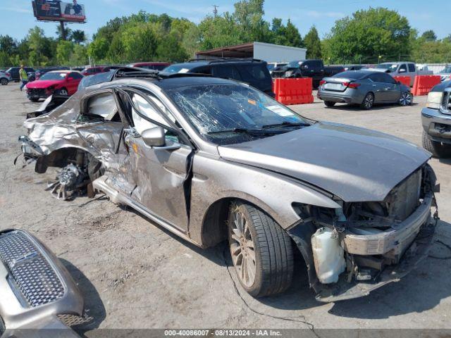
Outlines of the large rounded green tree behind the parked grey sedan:
<svg viewBox="0 0 451 338">
<path fill-rule="evenodd" d="M 370 7 L 335 21 L 323 46 L 333 63 L 376 63 L 378 56 L 383 60 L 409 56 L 409 37 L 407 18 L 387 8 Z"/>
</svg>

